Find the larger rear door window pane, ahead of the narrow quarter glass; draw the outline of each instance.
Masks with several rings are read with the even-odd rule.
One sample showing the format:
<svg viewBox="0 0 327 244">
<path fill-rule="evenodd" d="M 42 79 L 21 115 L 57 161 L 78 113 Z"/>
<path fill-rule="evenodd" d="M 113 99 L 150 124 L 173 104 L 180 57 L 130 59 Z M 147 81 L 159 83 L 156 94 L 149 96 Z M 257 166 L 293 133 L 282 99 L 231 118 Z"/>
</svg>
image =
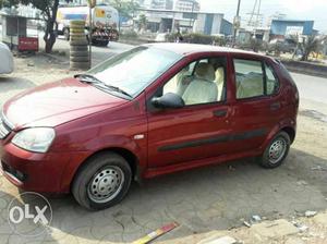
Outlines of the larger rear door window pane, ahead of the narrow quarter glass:
<svg viewBox="0 0 327 244">
<path fill-rule="evenodd" d="M 234 59 L 237 98 L 265 95 L 264 72 L 261 61 Z"/>
</svg>

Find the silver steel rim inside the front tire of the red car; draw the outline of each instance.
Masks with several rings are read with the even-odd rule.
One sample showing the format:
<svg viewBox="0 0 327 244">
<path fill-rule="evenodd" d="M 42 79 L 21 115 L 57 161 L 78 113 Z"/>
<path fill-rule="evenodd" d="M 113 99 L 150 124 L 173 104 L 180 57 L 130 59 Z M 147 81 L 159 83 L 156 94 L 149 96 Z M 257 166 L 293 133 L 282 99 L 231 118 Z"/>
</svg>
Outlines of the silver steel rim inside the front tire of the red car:
<svg viewBox="0 0 327 244">
<path fill-rule="evenodd" d="M 108 166 L 95 173 L 89 181 L 87 195 L 93 202 L 104 204 L 121 192 L 123 183 L 123 171 L 119 167 Z"/>
</svg>

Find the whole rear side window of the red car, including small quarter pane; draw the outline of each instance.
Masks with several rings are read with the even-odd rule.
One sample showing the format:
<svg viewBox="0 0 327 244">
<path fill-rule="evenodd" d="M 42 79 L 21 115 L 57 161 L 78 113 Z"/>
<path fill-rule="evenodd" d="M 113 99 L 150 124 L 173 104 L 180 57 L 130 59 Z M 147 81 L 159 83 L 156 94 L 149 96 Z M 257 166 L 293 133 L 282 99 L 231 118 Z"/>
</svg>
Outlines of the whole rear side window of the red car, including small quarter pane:
<svg viewBox="0 0 327 244">
<path fill-rule="evenodd" d="M 234 59 L 237 98 L 276 94 L 279 82 L 271 66 L 257 60 Z"/>
</svg>

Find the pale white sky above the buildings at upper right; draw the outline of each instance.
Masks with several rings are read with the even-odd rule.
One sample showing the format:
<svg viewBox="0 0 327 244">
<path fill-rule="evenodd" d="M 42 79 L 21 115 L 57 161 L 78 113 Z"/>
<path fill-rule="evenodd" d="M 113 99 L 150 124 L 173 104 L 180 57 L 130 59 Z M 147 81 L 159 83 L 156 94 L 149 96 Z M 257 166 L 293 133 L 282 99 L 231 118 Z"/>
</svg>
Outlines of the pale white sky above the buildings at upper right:
<svg viewBox="0 0 327 244">
<path fill-rule="evenodd" d="M 257 0 L 258 1 L 258 0 Z M 225 19 L 233 20 L 237 13 L 238 0 L 198 0 L 202 11 L 225 13 Z M 249 20 L 255 0 L 241 0 L 240 15 Z M 327 0 L 262 0 L 261 13 L 264 24 L 276 12 L 287 14 L 287 19 L 315 21 L 314 28 L 327 33 Z"/>
</svg>

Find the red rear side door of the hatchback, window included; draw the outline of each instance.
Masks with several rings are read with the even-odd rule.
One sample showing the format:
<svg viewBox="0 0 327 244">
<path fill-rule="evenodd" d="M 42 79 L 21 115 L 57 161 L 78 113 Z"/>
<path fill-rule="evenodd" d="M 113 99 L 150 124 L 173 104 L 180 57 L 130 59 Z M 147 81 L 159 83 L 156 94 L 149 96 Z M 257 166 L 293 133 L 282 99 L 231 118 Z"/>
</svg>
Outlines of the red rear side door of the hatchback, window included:
<svg viewBox="0 0 327 244">
<path fill-rule="evenodd" d="M 272 66 L 261 57 L 233 54 L 234 101 L 231 118 L 234 152 L 258 148 L 282 114 L 280 83 Z"/>
</svg>

